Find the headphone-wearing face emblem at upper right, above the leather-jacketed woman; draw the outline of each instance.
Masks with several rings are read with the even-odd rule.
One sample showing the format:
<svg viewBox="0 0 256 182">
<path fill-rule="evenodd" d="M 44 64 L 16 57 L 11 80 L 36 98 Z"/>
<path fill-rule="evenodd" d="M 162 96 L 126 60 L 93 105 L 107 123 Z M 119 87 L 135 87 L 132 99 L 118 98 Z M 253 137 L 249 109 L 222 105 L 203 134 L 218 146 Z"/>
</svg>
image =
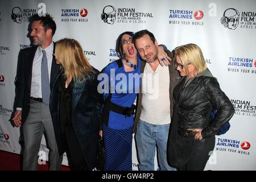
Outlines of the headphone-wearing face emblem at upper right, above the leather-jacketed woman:
<svg viewBox="0 0 256 182">
<path fill-rule="evenodd" d="M 235 30 L 239 24 L 240 13 L 233 8 L 226 9 L 221 18 L 221 24 L 231 30 Z"/>
</svg>

